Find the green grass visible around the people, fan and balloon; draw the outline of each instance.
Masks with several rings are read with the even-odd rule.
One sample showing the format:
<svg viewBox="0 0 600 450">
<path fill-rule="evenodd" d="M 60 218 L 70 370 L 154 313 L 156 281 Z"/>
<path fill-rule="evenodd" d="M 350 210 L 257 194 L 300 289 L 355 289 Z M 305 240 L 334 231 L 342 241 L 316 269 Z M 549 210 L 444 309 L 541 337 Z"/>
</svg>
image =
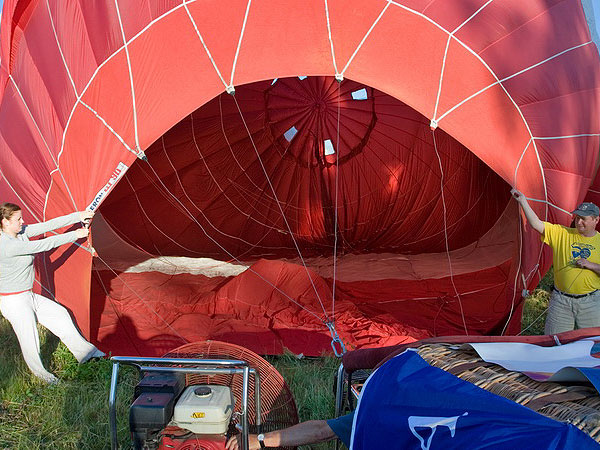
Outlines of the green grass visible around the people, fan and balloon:
<svg viewBox="0 0 600 450">
<path fill-rule="evenodd" d="M 546 281 L 547 284 L 547 281 Z M 525 302 L 524 334 L 543 332 L 548 289 L 544 283 Z M 64 345 L 40 329 L 42 356 L 61 382 L 46 386 L 31 376 L 23 362 L 10 324 L 0 318 L 0 449 L 106 449 L 108 391 L 111 363 L 78 365 Z M 301 420 L 331 417 L 335 358 L 298 360 L 292 355 L 272 358 L 290 385 Z M 119 442 L 128 448 L 128 405 L 136 374 L 124 368 L 118 396 Z M 332 444 L 312 446 L 332 449 Z"/>
</svg>

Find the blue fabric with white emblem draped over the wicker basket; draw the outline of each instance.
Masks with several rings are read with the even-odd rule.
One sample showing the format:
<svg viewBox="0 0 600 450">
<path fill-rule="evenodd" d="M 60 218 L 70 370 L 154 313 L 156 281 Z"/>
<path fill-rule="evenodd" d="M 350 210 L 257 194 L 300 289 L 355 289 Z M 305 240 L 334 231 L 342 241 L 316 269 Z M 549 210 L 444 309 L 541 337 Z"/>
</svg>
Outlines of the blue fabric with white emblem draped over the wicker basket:
<svg viewBox="0 0 600 450">
<path fill-rule="evenodd" d="M 600 445 L 573 425 L 478 388 L 406 351 L 367 380 L 350 448 L 598 450 Z"/>
</svg>

